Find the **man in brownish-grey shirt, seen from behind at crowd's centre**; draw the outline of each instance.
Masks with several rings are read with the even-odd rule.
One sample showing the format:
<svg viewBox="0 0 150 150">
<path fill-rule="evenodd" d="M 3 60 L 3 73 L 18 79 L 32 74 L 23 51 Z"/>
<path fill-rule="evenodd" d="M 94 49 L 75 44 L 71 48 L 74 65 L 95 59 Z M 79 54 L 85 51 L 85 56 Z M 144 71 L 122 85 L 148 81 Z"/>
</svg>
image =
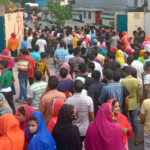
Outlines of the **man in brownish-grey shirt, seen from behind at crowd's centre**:
<svg viewBox="0 0 150 150">
<path fill-rule="evenodd" d="M 71 74 L 74 72 L 78 74 L 79 64 L 84 63 L 84 59 L 80 57 L 80 48 L 77 47 L 74 49 L 74 58 L 71 58 L 69 61 Z"/>
</svg>

